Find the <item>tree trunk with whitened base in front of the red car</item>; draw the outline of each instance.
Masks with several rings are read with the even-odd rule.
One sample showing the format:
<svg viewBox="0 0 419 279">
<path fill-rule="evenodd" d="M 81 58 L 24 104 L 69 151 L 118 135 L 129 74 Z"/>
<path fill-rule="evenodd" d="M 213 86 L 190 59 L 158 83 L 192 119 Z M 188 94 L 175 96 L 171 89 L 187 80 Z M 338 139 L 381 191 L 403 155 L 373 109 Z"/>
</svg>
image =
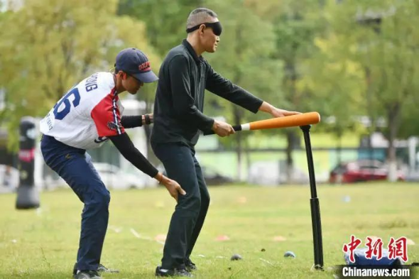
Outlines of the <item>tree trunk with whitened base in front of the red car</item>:
<svg viewBox="0 0 419 279">
<path fill-rule="evenodd" d="M 396 140 L 399 119 L 400 119 L 400 103 L 393 103 L 387 106 L 388 115 L 388 181 L 394 182 L 397 180 L 397 158 Z"/>
</svg>

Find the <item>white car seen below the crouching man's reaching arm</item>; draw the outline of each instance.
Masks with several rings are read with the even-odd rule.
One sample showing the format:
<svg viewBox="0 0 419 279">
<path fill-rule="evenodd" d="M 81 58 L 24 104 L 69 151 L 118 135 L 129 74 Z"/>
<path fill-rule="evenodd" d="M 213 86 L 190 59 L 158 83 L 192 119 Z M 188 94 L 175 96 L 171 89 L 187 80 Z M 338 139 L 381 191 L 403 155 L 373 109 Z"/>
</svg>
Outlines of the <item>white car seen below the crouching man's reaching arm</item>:
<svg viewBox="0 0 419 279">
<path fill-rule="evenodd" d="M 116 165 L 108 163 L 93 163 L 97 173 L 108 189 L 126 190 L 144 187 L 140 177 L 120 170 Z"/>
</svg>

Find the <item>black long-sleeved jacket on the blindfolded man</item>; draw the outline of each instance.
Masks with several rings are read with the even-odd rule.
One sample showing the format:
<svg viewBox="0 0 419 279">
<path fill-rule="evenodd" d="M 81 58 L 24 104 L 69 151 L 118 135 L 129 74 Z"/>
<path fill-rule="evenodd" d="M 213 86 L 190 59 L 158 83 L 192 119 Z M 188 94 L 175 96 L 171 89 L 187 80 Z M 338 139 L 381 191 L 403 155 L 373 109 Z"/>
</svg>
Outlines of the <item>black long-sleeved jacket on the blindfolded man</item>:
<svg viewBox="0 0 419 279">
<path fill-rule="evenodd" d="M 198 130 L 211 130 L 214 119 L 202 113 L 205 89 L 254 113 L 263 102 L 215 72 L 187 40 L 169 51 L 158 79 L 152 143 L 183 142 L 193 147 Z"/>
</svg>

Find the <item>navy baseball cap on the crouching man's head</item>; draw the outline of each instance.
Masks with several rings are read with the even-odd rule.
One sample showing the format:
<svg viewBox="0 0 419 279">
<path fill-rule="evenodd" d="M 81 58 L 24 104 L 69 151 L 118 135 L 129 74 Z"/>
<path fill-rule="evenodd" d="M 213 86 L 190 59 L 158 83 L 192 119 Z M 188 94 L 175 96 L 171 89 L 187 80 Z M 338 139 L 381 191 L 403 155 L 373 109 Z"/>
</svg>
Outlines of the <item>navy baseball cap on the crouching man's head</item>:
<svg viewBox="0 0 419 279">
<path fill-rule="evenodd" d="M 147 56 L 136 48 L 126 48 L 116 55 L 116 70 L 121 70 L 134 76 L 141 82 L 155 82 L 158 77 L 151 70 Z"/>
</svg>

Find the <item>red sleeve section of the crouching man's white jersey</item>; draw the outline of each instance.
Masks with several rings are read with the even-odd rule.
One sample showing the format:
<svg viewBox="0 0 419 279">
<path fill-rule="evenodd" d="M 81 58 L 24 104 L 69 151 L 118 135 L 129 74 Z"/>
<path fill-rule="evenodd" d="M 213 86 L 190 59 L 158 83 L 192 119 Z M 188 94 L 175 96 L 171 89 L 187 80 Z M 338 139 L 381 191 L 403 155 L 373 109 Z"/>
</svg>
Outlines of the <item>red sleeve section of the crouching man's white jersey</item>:
<svg viewBox="0 0 419 279">
<path fill-rule="evenodd" d="M 115 89 L 107 94 L 90 113 L 97 128 L 98 136 L 116 136 L 125 133 L 121 125 L 121 114 L 116 105 L 119 97 L 115 94 Z"/>
</svg>

